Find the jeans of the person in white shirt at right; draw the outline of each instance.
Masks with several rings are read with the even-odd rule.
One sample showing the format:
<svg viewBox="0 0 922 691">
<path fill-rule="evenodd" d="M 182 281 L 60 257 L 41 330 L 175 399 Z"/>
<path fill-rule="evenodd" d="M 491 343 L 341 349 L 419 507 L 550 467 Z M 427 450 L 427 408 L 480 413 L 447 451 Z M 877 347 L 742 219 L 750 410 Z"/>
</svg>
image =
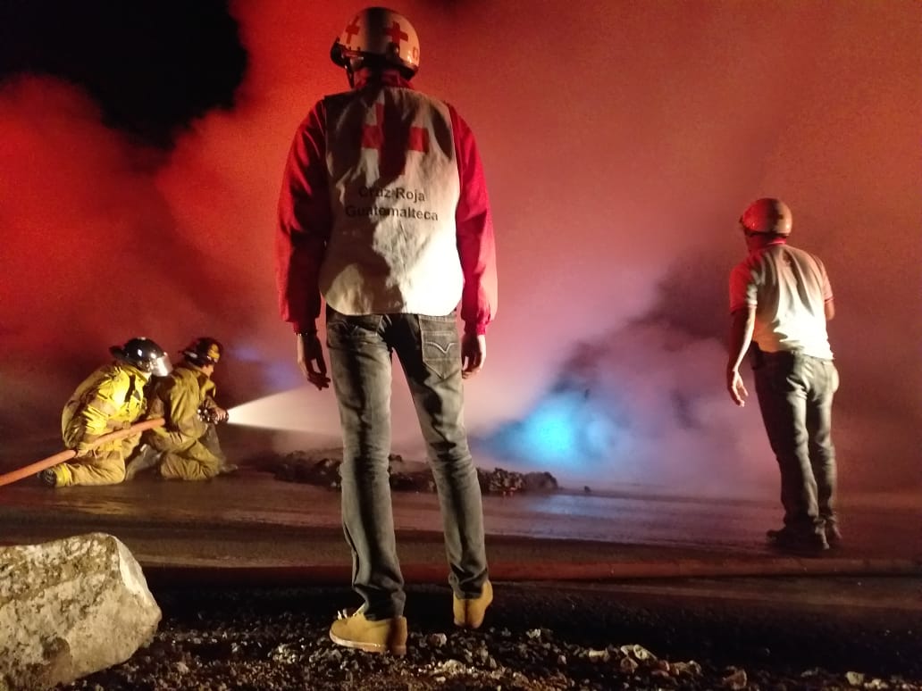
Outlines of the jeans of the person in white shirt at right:
<svg viewBox="0 0 922 691">
<path fill-rule="evenodd" d="M 832 360 L 802 353 L 757 353 L 755 388 L 778 468 L 785 526 L 822 533 L 836 522 L 833 394 L 839 373 Z"/>
</svg>

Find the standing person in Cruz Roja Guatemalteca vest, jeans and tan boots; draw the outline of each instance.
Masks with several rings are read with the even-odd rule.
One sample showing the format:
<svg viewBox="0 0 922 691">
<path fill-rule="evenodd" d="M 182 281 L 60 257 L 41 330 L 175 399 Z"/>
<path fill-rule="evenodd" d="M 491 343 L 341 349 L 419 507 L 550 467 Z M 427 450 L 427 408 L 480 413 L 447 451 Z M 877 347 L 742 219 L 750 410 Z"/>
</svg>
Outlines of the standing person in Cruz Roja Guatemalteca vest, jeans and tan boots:
<svg viewBox="0 0 922 691">
<path fill-rule="evenodd" d="M 474 135 L 452 106 L 410 86 L 420 42 L 408 19 L 365 9 L 331 57 L 351 89 L 316 103 L 294 136 L 278 205 L 279 306 L 297 334 L 302 373 L 322 390 L 330 378 L 316 323 L 326 303 L 343 523 L 364 600 L 330 636 L 403 654 L 406 595 L 388 479 L 391 355 L 407 376 L 439 492 L 455 624 L 477 628 L 492 589 L 462 379 L 487 354 L 495 240 Z"/>
</svg>

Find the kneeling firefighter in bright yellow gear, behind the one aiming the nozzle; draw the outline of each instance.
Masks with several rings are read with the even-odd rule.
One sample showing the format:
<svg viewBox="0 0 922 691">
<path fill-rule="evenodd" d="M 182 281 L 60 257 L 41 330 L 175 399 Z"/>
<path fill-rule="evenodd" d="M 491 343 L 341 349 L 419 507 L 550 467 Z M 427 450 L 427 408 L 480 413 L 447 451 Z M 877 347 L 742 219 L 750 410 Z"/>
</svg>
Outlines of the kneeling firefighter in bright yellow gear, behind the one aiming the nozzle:
<svg viewBox="0 0 922 691">
<path fill-rule="evenodd" d="M 140 420 L 148 407 L 145 387 L 151 375 L 165 377 L 170 357 L 149 338 L 132 338 L 112 345 L 115 359 L 84 380 L 65 404 L 61 436 L 77 451 L 73 463 L 58 463 L 41 471 L 44 485 L 115 485 L 124 480 L 125 459 L 135 450 L 140 433 L 90 446 L 104 434 L 126 429 Z"/>
</svg>

